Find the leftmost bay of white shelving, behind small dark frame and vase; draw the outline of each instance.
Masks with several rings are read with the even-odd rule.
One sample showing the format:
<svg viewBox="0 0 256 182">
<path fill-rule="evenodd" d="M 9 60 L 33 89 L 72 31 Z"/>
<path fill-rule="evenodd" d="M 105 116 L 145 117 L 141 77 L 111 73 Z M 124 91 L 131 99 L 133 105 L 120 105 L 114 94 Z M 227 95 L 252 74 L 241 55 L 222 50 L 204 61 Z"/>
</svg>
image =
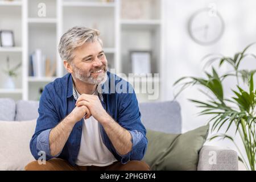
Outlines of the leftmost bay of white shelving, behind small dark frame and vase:
<svg viewBox="0 0 256 182">
<path fill-rule="evenodd" d="M 22 1 L 0 1 L 0 30 L 12 30 L 14 32 L 15 47 L 0 47 L 0 97 L 11 97 L 16 100 L 22 99 L 23 69 L 19 69 L 17 77 L 14 78 L 15 89 L 7 88 L 8 76 L 3 70 L 7 69 L 7 57 L 9 57 L 10 68 L 22 62 L 23 64 L 23 2 Z"/>
</svg>

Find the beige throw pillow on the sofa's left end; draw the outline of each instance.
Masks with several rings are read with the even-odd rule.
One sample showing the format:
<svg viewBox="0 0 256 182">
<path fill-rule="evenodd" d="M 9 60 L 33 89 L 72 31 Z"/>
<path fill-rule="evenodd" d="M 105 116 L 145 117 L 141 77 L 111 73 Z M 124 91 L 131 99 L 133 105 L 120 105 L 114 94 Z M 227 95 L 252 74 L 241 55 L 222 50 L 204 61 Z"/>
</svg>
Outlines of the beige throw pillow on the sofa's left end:
<svg viewBox="0 0 256 182">
<path fill-rule="evenodd" d="M 0 170 L 24 170 L 34 157 L 30 139 L 36 119 L 31 121 L 0 121 Z"/>
</svg>

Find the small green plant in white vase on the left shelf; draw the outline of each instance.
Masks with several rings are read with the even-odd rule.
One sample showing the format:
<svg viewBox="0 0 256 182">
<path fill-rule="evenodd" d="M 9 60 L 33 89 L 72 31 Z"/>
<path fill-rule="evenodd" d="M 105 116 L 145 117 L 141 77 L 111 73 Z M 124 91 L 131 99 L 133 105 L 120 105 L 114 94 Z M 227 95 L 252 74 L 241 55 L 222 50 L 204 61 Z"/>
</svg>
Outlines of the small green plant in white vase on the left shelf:
<svg viewBox="0 0 256 182">
<path fill-rule="evenodd" d="M 16 71 L 18 71 L 18 69 L 20 68 L 22 63 L 20 62 L 19 64 L 15 65 L 13 68 L 10 68 L 9 56 L 7 56 L 6 63 L 7 63 L 7 69 L 3 70 L 3 72 L 5 72 L 6 75 L 8 76 L 7 80 L 5 82 L 5 88 L 7 88 L 7 89 L 14 89 L 15 88 L 15 84 L 14 84 L 13 78 L 18 76 Z"/>
</svg>

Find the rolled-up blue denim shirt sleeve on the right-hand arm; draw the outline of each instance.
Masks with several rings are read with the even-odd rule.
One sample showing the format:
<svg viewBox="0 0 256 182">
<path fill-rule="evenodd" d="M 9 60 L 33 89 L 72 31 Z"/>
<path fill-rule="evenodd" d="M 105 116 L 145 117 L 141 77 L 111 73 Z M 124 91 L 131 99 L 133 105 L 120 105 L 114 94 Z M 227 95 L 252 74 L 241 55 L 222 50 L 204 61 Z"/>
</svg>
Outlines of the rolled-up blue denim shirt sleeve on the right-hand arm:
<svg viewBox="0 0 256 182">
<path fill-rule="evenodd" d="M 131 86 L 129 84 L 129 86 Z M 141 112 L 139 111 L 136 94 L 122 93 L 118 105 L 118 123 L 131 134 L 133 146 L 131 151 L 121 156 L 121 163 L 125 164 L 129 160 L 142 160 L 147 149 L 146 129 L 141 122 Z"/>
</svg>

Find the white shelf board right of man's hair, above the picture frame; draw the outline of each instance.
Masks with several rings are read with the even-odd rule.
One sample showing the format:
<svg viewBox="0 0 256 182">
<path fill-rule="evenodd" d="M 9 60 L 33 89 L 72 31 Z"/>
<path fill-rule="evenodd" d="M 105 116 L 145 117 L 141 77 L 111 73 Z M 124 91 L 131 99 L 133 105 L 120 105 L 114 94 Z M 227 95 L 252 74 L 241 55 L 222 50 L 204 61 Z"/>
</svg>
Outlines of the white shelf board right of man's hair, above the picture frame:
<svg viewBox="0 0 256 182">
<path fill-rule="evenodd" d="M 123 19 L 121 20 L 121 26 L 125 29 L 138 30 L 138 29 L 154 29 L 161 25 L 161 21 L 157 19 L 150 20 L 134 20 L 134 19 Z"/>
</svg>

